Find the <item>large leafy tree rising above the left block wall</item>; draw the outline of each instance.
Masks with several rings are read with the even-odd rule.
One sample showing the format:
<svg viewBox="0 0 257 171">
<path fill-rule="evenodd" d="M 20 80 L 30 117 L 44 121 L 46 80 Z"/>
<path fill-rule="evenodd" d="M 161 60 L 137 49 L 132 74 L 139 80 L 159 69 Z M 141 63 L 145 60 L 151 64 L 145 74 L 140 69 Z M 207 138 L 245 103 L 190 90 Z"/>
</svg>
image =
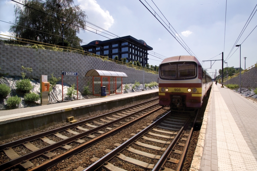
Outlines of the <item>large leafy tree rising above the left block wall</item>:
<svg viewBox="0 0 257 171">
<path fill-rule="evenodd" d="M 15 25 L 10 27 L 9 32 L 16 37 L 60 45 L 62 42 L 60 21 L 65 21 L 63 26 L 65 45 L 78 49 L 82 43 L 82 39 L 76 34 L 86 27 L 87 15 L 79 5 L 74 5 L 73 0 L 46 0 L 46 3 L 40 0 L 26 1 L 26 6 L 23 8 L 15 5 L 14 12 Z"/>
</svg>

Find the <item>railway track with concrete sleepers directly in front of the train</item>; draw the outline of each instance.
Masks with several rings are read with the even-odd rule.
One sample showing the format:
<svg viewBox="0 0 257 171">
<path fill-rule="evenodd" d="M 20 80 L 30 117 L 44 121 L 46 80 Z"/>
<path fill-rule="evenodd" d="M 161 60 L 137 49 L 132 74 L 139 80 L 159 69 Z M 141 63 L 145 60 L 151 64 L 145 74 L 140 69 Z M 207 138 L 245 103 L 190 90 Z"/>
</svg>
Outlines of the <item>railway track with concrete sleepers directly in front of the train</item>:
<svg viewBox="0 0 257 171">
<path fill-rule="evenodd" d="M 108 154 L 102 158 L 91 158 L 94 163 L 89 167 L 77 170 L 93 171 L 103 167 L 109 171 L 125 171 L 124 163 L 134 165 L 135 170 L 181 170 L 198 112 L 199 109 L 179 117 L 172 116 L 172 111 L 166 112 L 132 134 L 132 138 L 125 138 L 123 144 L 115 144 L 117 148 L 106 149 Z"/>
</svg>

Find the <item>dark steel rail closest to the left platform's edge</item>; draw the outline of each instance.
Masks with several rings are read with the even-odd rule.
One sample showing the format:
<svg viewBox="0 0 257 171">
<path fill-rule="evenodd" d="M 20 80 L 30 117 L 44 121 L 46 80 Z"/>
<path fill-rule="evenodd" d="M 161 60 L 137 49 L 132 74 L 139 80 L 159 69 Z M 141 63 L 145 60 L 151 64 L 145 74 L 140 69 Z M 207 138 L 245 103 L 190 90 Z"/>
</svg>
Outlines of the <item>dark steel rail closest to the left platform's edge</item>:
<svg viewBox="0 0 257 171">
<path fill-rule="evenodd" d="M 8 142 L 6 144 L 2 144 L 0 145 L 0 151 L 1 150 L 4 150 L 5 148 L 10 148 L 10 147 L 13 147 L 13 146 L 17 146 L 17 145 L 21 145 L 22 143 L 24 142 L 29 142 L 29 141 L 32 141 L 32 140 L 35 140 L 35 139 L 38 139 L 42 136 L 48 136 L 48 135 L 51 135 L 55 132 L 61 132 L 61 131 L 64 131 L 66 129 L 69 129 L 69 128 L 73 128 L 77 125 L 81 125 L 81 124 L 84 124 L 86 122 L 91 122 L 93 120 L 96 120 L 96 119 L 99 119 L 99 118 L 103 118 L 105 116 L 108 116 L 108 115 L 111 115 L 111 114 L 115 114 L 117 112 L 121 112 L 123 110 L 128 110 L 130 108 L 133 108 L 133 107 L 136 107 L 136 106 L 139 106 L 139 105 L 142 105 L 142 104 L 145 104 L 145 103 L 148 103 L 148 102 L 151 102 L 151 101 L 154 101 L 154 100 L 157 100 L 158 98 L 155 98 L 155 99 L 152 99 L 152 100 L 148 100 L 146 102 L 142 102 L 142 103 L 139 103 L 139 104 L 135 104 L 135 105 L 132 105 L 132 106 L 129 106 L 129 107 L 126 107 L 126 108 L 122 108 L 122 109 L 119 109 L 119 110 L 115 110 L 113 112 L 109 112 L 109 113 L 106 113 L 106 114 L 103 114 L 103 115 L 99 115 L 99 116 L 95 116 L 93 118 L 89 118 L 89 119 L 86 119 L 86 120 L 82 120 L 80 122 L 76 122 L 74 124 L 69 124 L 69 125 L 66 125 L 66 126 L 63 126 L 63 127 L 60 127 L 60 128 L 56 128 L 56 129 L 53 129 L 53 130 L 49 130 L 49 131 L 46 131 L 46 132 L 42 132 L 40 134 L 36 134 L 36 135 L 33 135 L 33 136 L 29 136 L 29 137 L 26 137 L 26 138 L 22 138 L 22 139 L 19 139 L 19 140 L 16 140 L 16 141 L 12 141 L 12 142 Z"/>
</svg>

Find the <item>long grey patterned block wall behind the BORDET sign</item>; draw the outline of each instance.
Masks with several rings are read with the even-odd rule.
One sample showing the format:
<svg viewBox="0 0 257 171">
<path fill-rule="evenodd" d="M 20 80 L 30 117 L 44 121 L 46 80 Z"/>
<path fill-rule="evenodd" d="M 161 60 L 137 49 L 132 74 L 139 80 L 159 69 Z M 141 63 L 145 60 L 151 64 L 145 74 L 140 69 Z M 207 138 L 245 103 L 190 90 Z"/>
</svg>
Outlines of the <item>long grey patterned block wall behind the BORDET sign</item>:
<svg viewBox="0 0 257 171">
<path fill-rule="evenodd" d="M 24 66 L 33 69 L 33 72 L 28 74 L 27 77 L 36 79 L 39 79 L 41 75 L 50 77 L 51 73 L 54 73 L 55 77 L 61 77 L 62 71 L 78 72 L 79 91 L 81 92 L 83 92 L 83 85 L 87 85 L 88 81 L 90 82 L 90 88 L 93 86 L 93 79 L 85 77 L 85 74 L 90 69 L 124 72 L 128 75 L 127 78 L 123 78 L 124 84 L 134 83 L 135 81 L 143 83 L 143 71 L 116 64 L 115 62 L 103 61 L 96 57 L 76 53 L 5 45 L 1 41 L 0 61 L 0 73 L 20 76 L 22 72 L 21 66 Z M 145 83 L 157 82 L 158 74 L 145 72 L 144 78 Z M 77 84 L 77 78 L 72 76 L 64 76 L 63 81 L 70 85 Z"/>
</svg>

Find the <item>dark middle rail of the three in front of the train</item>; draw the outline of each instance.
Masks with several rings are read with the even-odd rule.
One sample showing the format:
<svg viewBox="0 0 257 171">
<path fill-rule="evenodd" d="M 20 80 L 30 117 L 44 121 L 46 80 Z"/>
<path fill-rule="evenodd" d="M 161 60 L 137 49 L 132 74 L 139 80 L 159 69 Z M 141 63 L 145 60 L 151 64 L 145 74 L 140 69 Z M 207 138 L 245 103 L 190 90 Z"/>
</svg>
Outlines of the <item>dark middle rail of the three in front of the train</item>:
<svg viewBox="0 0 257 171">
<path fill-rule="evenodd" d="M 196 117 L 195 120 L 197 118 L 199 112 L 199 108 L 197 110 L 196 113 Z M 192 116 L 192 115 L 191 115 Z M 182 126 L 182 128 L 179 130 L 178 134 L 175 136 L 175 138 L 173 139 L 173 141 L 170 143 L 170 145 L 168 146 L 168 148 L 166 149 L 166 151 L 162 154 L 161 158 L 159 159 L 159 161 L 156 163 L 156 165 L 154 166 L 154 168 L 152 169 L 152 171 L 159 171 L 159 170 L 164 170 L 164 164 L 167 160 L 167 157 L 170 156 L 170 154 L 172 153 L 172 149 L 174 148 L 174 146 L 176 146 L 176 142 L 180 139 L 180 136 L 182 135 L 183 131 L 186 129 L 186 126 L 188 125 L 191 116 L 188 118 L 188 120 L 186 121 L 186 123 Z M 195 121 L 194 120 L 194 121 Z M 184 150 L 183 150 L 184 151 Z"/>
</svg>

